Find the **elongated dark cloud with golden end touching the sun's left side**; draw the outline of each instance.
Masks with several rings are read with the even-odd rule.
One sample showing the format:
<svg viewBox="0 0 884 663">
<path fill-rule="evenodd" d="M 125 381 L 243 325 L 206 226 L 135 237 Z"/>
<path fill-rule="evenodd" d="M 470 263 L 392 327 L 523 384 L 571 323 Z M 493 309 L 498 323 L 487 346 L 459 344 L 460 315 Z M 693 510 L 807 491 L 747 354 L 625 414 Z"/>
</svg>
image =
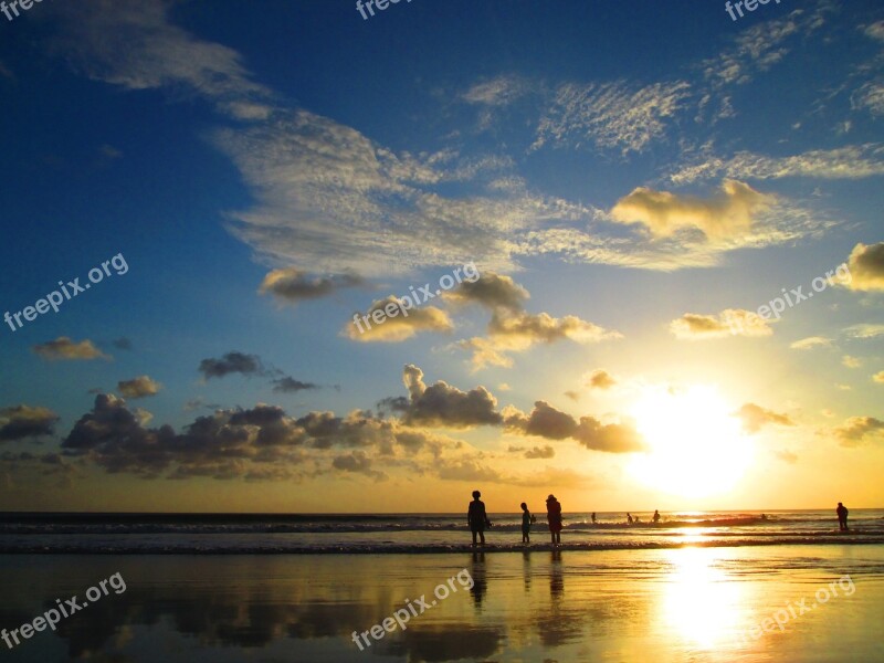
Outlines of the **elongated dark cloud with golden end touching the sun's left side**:
<svg viewBox="0 0 884 663">
<path fill-rule="evenodd" d="M 547 440 L 573 439 L 587 449 L 608 453 L 631 453 L 646 449 L 641 434 L 631 424 L 603 424 L 592 417 L 581 417 L 577 421 L 545 401 L 535 402 L 530 414 L 507 407 L 503 415 L 505 429 L 513 433 Z"/>
</svg>

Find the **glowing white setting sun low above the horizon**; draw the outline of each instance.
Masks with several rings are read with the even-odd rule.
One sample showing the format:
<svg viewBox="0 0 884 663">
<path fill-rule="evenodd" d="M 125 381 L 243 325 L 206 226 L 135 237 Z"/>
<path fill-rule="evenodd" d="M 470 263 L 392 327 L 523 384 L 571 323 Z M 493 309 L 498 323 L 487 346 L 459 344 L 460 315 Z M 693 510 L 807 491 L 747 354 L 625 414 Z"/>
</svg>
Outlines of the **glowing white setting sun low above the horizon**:
<svg viewBox="0 0 884 663">
<path fill-rule="evenodd" d="M 734 410 L 714 387 L 649 388 L 632 410 L 650 448 L 633 459 L 633 475 L 684 497 L 730 491 L 754 456 Z"/>
</svg>

